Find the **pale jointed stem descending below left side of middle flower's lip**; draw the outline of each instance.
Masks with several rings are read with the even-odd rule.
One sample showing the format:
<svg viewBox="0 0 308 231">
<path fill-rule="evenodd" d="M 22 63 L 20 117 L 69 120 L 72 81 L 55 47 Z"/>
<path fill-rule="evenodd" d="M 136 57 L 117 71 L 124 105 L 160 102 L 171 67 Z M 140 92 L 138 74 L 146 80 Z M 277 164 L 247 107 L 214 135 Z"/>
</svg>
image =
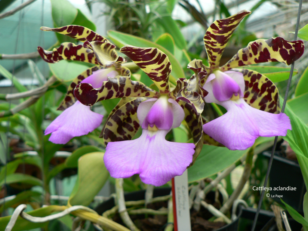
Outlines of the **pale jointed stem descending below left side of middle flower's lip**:
<svg viewBox="0 0 308 231">
<path fill-rule="evenodd" d="M 125 206 L 123 178 L 115 179 L 116 202 L 119 206 L 119 214 L 124 224 L 133 231 L 140 231 L 129 217 Z"/>
</svg>

